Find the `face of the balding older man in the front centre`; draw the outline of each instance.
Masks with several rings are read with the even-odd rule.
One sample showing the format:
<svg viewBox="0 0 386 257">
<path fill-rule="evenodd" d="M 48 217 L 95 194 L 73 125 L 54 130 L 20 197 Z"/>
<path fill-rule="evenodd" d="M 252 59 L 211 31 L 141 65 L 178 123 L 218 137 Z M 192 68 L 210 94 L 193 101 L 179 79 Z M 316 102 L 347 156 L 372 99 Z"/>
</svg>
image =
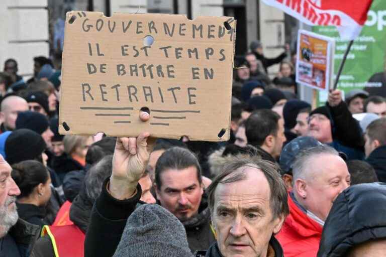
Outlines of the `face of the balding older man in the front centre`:
<svg viewBox="0 0 386 257">
<path fill-rule="evenodd" d="M 219 249 L 227 257 L 263 256 L 269 239 L 280 230 L 284 219 L 273 216 L 270 188 L 264 174 L 253 167 L 238 170 L 247 179 L 220 183 L 215 191 L 212 222 Z"/>
</svg>

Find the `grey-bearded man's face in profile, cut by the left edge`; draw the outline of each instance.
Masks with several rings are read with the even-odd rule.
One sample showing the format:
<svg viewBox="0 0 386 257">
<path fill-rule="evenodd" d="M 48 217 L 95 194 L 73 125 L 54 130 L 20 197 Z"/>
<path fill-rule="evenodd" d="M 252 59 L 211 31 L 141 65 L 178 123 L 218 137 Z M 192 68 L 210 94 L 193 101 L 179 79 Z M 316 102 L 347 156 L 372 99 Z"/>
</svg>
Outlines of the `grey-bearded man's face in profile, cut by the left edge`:
<svg viewBox="0 0 386 257">
<path fill-rule="evenodd" d="M 18 221 L 16 196 L 20 189 L 11 177 L 11 166 L 0 155 L 0 238 Z"/>
</svg>

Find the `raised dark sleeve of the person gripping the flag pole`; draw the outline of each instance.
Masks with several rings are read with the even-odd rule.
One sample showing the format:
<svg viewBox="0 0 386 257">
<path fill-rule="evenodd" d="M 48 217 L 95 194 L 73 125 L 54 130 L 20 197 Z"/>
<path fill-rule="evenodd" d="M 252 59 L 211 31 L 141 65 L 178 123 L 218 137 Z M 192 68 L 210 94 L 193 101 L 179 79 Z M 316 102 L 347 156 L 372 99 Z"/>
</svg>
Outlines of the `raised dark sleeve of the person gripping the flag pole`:
<svg viewBox="0 0 386 257">
<path fill-rule="evenodd" d="M 341 101 L 339 105 L 334 107 L 327 103 L 327 106 L 334 120 L 334 140 L 338 140 L 347 147 L 362 149 L 364 146 L 362 130 L 358 121 L 348 110 L 346 103 Z"/>
</svg>

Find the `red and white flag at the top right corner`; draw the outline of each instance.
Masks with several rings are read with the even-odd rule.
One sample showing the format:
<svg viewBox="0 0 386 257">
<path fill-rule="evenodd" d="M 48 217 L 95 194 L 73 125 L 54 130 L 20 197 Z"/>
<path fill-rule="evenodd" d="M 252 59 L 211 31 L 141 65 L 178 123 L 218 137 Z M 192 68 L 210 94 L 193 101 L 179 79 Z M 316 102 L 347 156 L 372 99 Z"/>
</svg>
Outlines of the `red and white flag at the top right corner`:
<svg viewBox="0 0 386 257">
<path fill-rule="evenodd" d="M 367 20 L 372 0 L 262 0 L 308 25 L 336 26 L 340 37 L 354 40 Z"/>
</svg>

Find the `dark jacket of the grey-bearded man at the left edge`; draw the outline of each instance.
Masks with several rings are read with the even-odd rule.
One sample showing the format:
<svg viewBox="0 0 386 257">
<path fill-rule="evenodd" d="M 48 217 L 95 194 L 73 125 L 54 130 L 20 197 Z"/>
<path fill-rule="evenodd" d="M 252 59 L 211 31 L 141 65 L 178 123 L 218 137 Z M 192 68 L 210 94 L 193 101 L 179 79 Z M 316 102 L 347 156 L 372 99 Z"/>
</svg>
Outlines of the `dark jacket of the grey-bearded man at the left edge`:
<svg viewBox="0 0 386 257">
<path fill-rule="evenodd" d="M 29 257 L 35 242 L 39 237 L 41 227 L 33 225 L 19 219 L 18 222 L 10 229 L 7 236 L 0 239 L 0 256 L 1 257 Z M 17 246 L 17 251 L 15 247 Z M 19 254 L 19 255 L 18 255 Z M 32 257 L 33 255 L 31 255 Z"/>
</svg>

